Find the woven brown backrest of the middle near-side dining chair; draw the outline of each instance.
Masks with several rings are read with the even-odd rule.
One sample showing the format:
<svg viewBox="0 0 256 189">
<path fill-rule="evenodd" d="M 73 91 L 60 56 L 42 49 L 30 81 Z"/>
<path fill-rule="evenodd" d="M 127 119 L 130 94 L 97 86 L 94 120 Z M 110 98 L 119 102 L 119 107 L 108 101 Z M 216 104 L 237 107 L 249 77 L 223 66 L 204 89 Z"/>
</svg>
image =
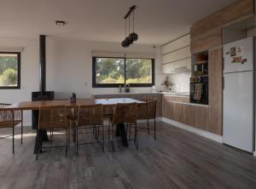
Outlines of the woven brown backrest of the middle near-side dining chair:
<svg viewBox="0 0 256 189">
<path fill-rule="evenodd" d="M 102 105 L 79 106 L 78 126 L 103 124 Z"/>
</svg>

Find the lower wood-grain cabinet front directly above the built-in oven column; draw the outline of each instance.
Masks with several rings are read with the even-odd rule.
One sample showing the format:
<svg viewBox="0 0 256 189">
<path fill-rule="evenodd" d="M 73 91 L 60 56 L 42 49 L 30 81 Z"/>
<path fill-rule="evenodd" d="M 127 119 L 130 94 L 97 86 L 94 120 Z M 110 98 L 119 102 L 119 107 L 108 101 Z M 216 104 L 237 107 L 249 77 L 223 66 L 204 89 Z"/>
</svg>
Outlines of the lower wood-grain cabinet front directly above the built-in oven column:
<svg viewBox="0 0 256 189">
<path fill-rule="evenodd" d="M 218 28 L 201 35 L 197 40 L 191 40 L 191 54 L 222 46 L 222 29 Z"/>
</svg>

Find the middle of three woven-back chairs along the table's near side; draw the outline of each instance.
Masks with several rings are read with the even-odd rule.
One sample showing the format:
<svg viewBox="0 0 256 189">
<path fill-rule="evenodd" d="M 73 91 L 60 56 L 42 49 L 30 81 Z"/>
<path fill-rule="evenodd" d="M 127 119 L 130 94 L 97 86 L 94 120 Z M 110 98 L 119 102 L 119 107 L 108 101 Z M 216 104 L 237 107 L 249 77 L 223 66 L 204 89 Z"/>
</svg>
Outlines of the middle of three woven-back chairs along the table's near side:
<svg viewBox="0 0 256 189">
<path fill-rule="evenodd" d="M 88 132 L 80 132 L 79 129 L 86 129 Z M 93 130 L 91 132 L 91 129 Z M 102 129 L 102 132 L 100 132 Z M 102 141 L 99 140 L 100 133 L 102 133 Z M 79 135 L 81 134 L 92 134 L 95 140 L 79 143 Z M 76 146 L 77 155 L 79 155 L 79 145 L 86 144 L 101 144 L 102 152 L 104 152 L 104 125 L 103 125 L 103 112 L 102 105 L 92 106 L 79 106 L 78 120 L 76 123 Z"/>
</svg>

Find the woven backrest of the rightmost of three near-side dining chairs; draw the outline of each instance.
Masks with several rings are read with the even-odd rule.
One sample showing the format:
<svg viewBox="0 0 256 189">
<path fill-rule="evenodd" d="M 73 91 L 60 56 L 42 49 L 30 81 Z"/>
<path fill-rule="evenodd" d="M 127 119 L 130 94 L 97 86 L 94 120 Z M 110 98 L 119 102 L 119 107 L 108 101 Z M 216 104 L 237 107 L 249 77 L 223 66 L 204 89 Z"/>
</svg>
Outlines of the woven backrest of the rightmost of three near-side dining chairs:
<svg viewBox="0 0 256 189">
<path fill-rule="evenodd" d="M 114 108 L 113 123 L 137 123 L 137 103 L 119 103 Z"/>
</svg>

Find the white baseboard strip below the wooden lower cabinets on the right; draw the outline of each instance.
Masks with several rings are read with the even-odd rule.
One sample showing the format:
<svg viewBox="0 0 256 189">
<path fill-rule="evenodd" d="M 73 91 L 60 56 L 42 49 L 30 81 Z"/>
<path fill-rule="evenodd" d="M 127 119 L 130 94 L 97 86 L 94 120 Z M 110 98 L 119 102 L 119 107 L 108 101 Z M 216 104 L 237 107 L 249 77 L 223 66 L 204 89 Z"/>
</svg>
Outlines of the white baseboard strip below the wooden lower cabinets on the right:
<svg viewBox="0 0 256 189">
<path fill-rule="evenodd" d="M 223 138 L 222 138 L 221 135 L 212 134 L 212 133 L 207 132 L 207 131 L 202 130 L 202 129 L 196 129 L 196 128 L 191 127 L 187 124 L 179 123 L 179 122 L 173 121 L 172 119 L 168 119 L 166 117 L 161 117 L 161 121 L 165 122 L 165 123 L 169 123 L 174 127 L 187 130 L 187 131 L 189 131 L 191 133 L 194 133 L 196 135 L 201 135 L 203 137 L 206 137 L 207 139 L 214 140 L 214 141 L 217 141 L 219 143 L 223 143 Z"/>
</svg>

